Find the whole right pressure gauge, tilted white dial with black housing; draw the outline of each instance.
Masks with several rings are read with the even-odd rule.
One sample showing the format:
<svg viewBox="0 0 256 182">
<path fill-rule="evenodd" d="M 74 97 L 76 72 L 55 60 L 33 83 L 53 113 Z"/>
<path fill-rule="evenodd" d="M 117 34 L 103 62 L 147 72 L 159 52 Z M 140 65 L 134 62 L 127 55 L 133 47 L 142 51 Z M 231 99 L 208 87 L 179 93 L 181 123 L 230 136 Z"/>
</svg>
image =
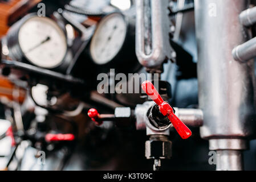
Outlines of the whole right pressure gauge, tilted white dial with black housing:
<svg viewBox="0 0 256 182">
<path fill-rule="evenodd" d="M 135 55 L 135 28 L 131 19 L 112 13 L 100 20 L 90 44 L 90 55 L 96 65 L 131 65 Z"/>
</svg>

